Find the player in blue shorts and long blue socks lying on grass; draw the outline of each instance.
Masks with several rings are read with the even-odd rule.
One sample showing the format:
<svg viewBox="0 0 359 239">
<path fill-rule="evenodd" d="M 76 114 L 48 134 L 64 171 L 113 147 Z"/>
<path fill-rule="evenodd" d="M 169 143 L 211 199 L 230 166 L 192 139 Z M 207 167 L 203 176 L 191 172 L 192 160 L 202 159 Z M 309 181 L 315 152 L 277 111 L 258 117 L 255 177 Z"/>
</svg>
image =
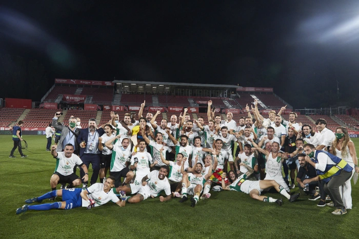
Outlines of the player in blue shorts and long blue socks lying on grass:
<svg viewBox="0 0 359 239">
<path fill-rule="evenodd" d="M 96 183 L 83 190 L 82 188 L 60 189 L 45 193 L 42 196 L 34 197 L 25 200 L 25 203 L 41 203 L 44 199 L 61 196 L 62 202 L 47 203 L 41 205 L 24 205 L 16 209 L 16 214 L 26 212 L 27 210 L 50 210 L 50 209 L 72 209 L 77 207 L 98 207 L 106 204 L 109 201 L 114 202 L 120 207 L 125 206 L 125 192 L 120 192 L 120 201 L 117 196 L 112 192 L 111 188 L 114 187 L 115 178 L 109 176 L 106 178 L 104 184 Z"/>
</svg>

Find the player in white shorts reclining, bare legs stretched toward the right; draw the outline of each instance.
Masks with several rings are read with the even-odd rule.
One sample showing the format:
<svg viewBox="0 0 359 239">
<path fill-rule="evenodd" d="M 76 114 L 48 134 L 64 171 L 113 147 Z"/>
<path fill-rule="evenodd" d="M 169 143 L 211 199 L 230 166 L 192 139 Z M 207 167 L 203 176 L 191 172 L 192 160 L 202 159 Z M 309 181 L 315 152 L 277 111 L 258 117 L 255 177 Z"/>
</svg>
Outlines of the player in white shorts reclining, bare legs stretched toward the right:
<svg viewBox="0 0 359 239">
<path fill-rule="evenodd" d="M 240 163 L 240 166 L 245 166 L 244 163 Z M 274 187 L 277 192 L 281 193 L 285 197 L 288 198 L 289 202 L 294 202 L 296 198 L 300 196 L 300 193 L 296 193 L 293 195 L 289 195 L 289 193 L 280 186 L 277 182 L 274 180 L 261 180 L 261 181 L 249 181 L 246 180 L 247 176 L 251 175 L 253 173 L 252 170 L 248 170 L 248 172 L 242 174 L 238 178 L 236 178 L 235 174 L 232 173 L 229 176 L 231 177 L 231 181 L 234 181 L 231 185 L 226 186 L 224 178 L 226 177 L 226 174 L 222 174 L 222 188 L 223 190 L 228 191 L 237 191 L 237 192 L 244 192 L 249 194 L 253 199 L 268 203 L 277 203 L 278 205 L 282 206 L 283 201 L 282 198 L 274 199 L 272 197 L 267 196 L 261 196 L 261 192 L 264 189 Z"/>
</svg>

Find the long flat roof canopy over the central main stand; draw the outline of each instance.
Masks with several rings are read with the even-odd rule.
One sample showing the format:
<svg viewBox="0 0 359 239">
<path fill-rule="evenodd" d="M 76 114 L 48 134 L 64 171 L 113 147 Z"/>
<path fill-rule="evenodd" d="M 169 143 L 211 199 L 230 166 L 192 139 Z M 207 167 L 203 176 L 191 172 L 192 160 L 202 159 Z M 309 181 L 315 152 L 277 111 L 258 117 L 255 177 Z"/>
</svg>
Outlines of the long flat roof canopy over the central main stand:
<svg viewBox="0 0 359 239">
<path fill-rule="evenodd" d="M 228 90 L 241 88 L 236 85 L 221 84 L 194 84 L 194 83 L 171 83 L 171 82 L 144 82 L 144 81 L 113 81 L 118 88 L 125 91 L 171 91 L 174 88 L 203 89 L 203 90 Z"/>
</svg>

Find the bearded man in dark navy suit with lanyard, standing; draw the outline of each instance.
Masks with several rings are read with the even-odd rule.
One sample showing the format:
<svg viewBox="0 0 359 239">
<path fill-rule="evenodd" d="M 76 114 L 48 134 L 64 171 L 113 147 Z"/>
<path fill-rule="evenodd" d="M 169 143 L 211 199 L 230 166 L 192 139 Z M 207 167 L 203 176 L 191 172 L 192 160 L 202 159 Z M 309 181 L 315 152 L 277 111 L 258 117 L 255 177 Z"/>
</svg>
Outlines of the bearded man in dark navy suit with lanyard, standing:
<svg viewBox="0 0 359 239">
<path fill-rule="evenodd" d="M 98 150 L 98 137 L 101 137 L 105 133 L 103 128 L 96 129 L 96 120 L 90 118 L 89 127 L 82 129 L 77 137 L 77 143 L 80 146 L 80 158 L 82 162 L 89 168 L 90 163 L 92 165 L 91 185 L 96 183 L 99 168 L 100 168 L 100 154 Z M 84 170 L 80 169 L 81 178 L 85 176 Z M 83 188 L 87 188 L 87 184 L 83 184 Z"/>
</svg>

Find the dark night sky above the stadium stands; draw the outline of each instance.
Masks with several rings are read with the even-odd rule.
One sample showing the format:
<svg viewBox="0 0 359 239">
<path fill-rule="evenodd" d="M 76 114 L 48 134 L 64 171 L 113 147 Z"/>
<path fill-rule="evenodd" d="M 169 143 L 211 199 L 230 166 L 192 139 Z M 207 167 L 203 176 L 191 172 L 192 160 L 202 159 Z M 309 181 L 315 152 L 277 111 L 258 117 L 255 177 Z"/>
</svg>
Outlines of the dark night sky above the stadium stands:
<svg viewBox="0 0 359 239">
<path fill-rule="evenodd" d="M 55 77 L 116 77 L 273 87 L 295 108 L 308 108 L 337 101 L 338 81 L 340 101 L 359 106 L 357 1 L 102 3 L 0 6 L 0 61 L 21 56 L 45 67 L 44 87 L 35 94 L 25 87 L 22 97 L 38 101 Z M 14 82 L 9 68 L 0 65 L 2 82 Z M 19 97 L 9 87 L 0 97 Z"/>
</svg>

